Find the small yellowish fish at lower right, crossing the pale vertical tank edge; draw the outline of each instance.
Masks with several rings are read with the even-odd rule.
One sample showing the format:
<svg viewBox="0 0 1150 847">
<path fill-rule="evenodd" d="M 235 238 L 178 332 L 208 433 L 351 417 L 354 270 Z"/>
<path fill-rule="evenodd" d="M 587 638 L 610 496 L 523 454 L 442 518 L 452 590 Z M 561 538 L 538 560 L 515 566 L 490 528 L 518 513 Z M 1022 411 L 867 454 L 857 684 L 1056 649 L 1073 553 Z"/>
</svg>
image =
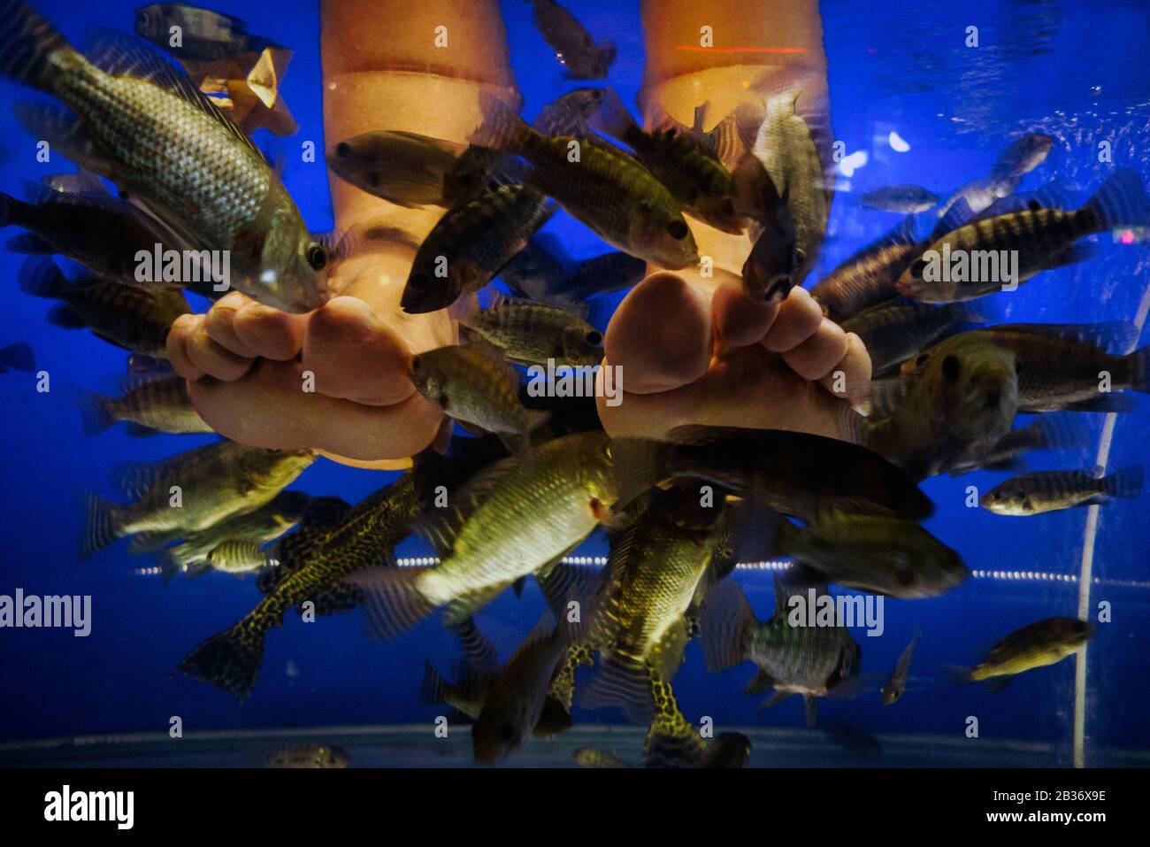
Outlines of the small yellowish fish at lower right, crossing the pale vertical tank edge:
<svg viewBox="0 0 1150 847">
<path fill-rule="evenodd" d="M 1019 673 L 1057 664 L 1078 653 L 1094 634 L 1088 620 L 1045 618 L 1028 624 L 996 642 L 973 669 L 952 667 L 956 682 L 994 680 L 991 690 L 1002 690 Z"/>
</svg>

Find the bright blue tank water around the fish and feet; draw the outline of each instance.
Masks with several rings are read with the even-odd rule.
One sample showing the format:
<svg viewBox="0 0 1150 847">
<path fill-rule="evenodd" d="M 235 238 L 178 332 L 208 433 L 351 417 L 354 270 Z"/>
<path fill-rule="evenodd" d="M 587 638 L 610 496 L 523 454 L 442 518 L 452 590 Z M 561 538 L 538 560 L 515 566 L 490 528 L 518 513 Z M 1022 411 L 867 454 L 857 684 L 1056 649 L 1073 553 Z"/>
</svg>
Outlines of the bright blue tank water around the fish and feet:
<svg viewBox="0 0 1150 847">
<path fill-rule="evenodd" d="M 80 40 L 92 25 L 130 29 L 137 3 L 44 0 L 41 13 L 63 32 Z M 381 2 L 381 7 L 385 7 Z M 610 82 L 634 102 L 644 67 L 637 2 L 568 2 L 597 36 L 612 38 L 619 58 Z M 1022 189 L 1057 180 L 1083 198 L 1119 166 L 1150 177 L 1150 9 L 1143 2 L 1058 3 L 977 2 L 958 5 L 908 2 L 825 2 L 821 6 L 829 60 L 829 90 L 835 138 L 853 153 L 868 154 L 836 197 L 829 237 L 819 270 L 831 269 L 859 246 L 892 228 L 898 218 L 862 209 L 860 191 L 889 183 L 919 183 L 946 196 L 968 180 L 984 175 L 995 158 L 1025 131 L 1057 138 L 1046 162 L 1029 174 Z M 575 87 L 531 25 L 527 3 L 501 3 L 511 60 L 524 99 L 524 114 Z M 322 162 L 300 161 L 302 140 L 323 148 L 321 70 L 315 2 L 284 0 L 274 5 L 227 2 L 220 10 L 248 21 L 253 32 L 294 49 L 282 93 L 299 123 L 293 138 L 268 142 L 284 155 L 283 180 L 313 230 L 332 226 Z M 382 13 L 385 14 L 385 13 Z M 964 30 L 980 28 L 981 46 L 966 48 Z M 767 25 L 767 22 L 764 22 Z M 68 170 L 66 163 L 37 163 L 34 142 L 10 116 L 10 102 L 26 92 L 5 83 L 0 138 L 8 159 L 0 188 L 18 194 L 23 181 Z M 386 128 L 385 119 L 381 129 Z M 888 143 L 891 131 L 910 144 L 905 153 Z M 1098 143 L 1109 140 L 1113 162 L 1098 161 Z M 575 255 L 601 252 L 603 245 L 582 226 L 560 214 L 549 228 Z M 15 234 L 8 230 L 7 234 Z M 1012 321 L 1084 322 L 1133 320 L 1150 273 L 1145 251 L 1099 243 L 1096 259 L 1082 266 L 1048 272 L 1014 295 L 981 302 L 992 318 Z M 0 740 L 60 735 L 164 732 L 179 716 L 185 732 L 322 725 L 421 724 L 443 709 L 416 699 L 424 658 L 442 670 L 453 664 L 457 646 L 436 620 L 393 642 L 366 638 L 360 612 L 316 623 L 289 615 L 273 631 L 255 689 L 238 704 L 228 694 L 172 676 L 185 653 L 207 635 L 246 613 L 259 600 L 253 580 L 225 574 L 164 588 L 155 578 L 133 573 L 150 564 L 133 559 L 123 547 L 77 565 L 82 532 L 79 496 L 85 490 L 110 495 L 109 470 L 124 460 L 162 458 L 209 438 L 159 436 L 130 438 L 118 428 L 86 438 L 71 389 L 101 388 L 123 371 L 124 354 L 85 333 L 48 326 L 51 304 L 20 293 L 15 275 L 20 257 L 5 254 L 0 274 L 8 296 L 0 310 L 0 345 L 29 342 L 38 368 L 51 374 L 51 391 L 37 392 L 30 374 L 0 375 L 0 594 L 16 587 L 25 593 L 92 595 L 92 634 L 68 631 L 0 631 Z M 1145 337 L 1141 344 L 1145 343 Z M 1111 467 L 1144 460 L 1150 402 L 1122 417 L 1114 430 Z M 1095 436 L 1102 415 L 1083 418 Z M 1021 421 L 1020 421 L 1021 422 Z M 1094 444 L 1082 455 L 1033 457 L 1036 470 L 1072 463 L 1094 464 Z M 335 494 L 348 502 L 385 484 L 394 474 L 354 470 L 319 460 L 294 483 L 314 495 Z M 917 625 L 923 638 L 904 699 L 884 708 L 875 695 L 852 701 L 823 701 L 820 719 L 851 722 L 873 733 L 921 734 L 961 740 L 968 716 L 977 716 L 981 739 L 1034 741 L 1049 764 L 1072 760 L 1074 662 L 1023 674 L 1000 694 L 979 687 L 943 684 L 948 664 L 974 664 L 982 651 L 1011 629 L 1049 616 L 1075 616 L 1076 579 L 1082 559 L 1086 510 L 1010 519 L 965 508 L 966 486 L 984 490 L 1000 475 L 974 473 L 953 480 L 929 479 L 925 491 L 937 513 L 926 526 L 956 548 L 979 572 L 1017 571 L 1059 574 L 1057 579 L 1004 580 L 976 577 L 945 596 L 885 604 L 881 638 L 854 633 L 862 647 L 864 673 L 884 677 Z M 1103 509 L 1094 555 L 1091 616 L 1109 602 L 1112 623 L 1097 624 L 1088 651 L 1084 699 L 1088 764 L 1113 763 L 1119 750 L 1150 748 L 1150 581 L 1148 572 L 1147 497 Z M 427 554 L 416 542 L 404 551 Z M 402 551 L 401 551 L 402 552 Z M 589 545 L 581 555 L 605 555 Z M 769 615 L 769 574 L 741 572 L 737 579 L 760 619 Z M 1141 586 L 1128 586 L 1141 582 Z M 507 595 L 480 616 L 480 625 L 507 656 L 543 609 L 537 589 L 523 598 Z M 680 707 L 691 720 L 711 716 L 723 726 L 803 726 L 798 699 L 770 711 L 758 711 L 759 699 L 744 696 L 750 664 L 708 676 L 697 642 L 688 647 L 675 679 Z M 576 709 L 578 724 L 618 722 L 611 712 Z M 989 745 L 988 745 L 989 747 Z M 923 741 L 918 761 L 930 763 Z M 988 754 L 989 755 L 989 754 Z M 632 758 L 637 757 L 637 751 Z M 812 762 L 813 763 L 813 762 Z M 999 762 L 1000 763 L 1000 762 Z"/>
</svg>

